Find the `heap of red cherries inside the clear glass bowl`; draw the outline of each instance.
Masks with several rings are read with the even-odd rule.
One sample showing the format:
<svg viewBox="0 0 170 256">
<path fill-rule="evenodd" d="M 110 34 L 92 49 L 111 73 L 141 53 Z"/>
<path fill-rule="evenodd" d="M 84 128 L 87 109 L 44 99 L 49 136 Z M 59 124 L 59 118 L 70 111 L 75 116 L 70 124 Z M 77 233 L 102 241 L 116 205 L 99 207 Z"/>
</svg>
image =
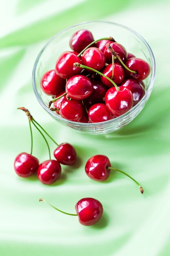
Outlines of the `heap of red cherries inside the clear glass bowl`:
<svg viewBox="0 0 170 256">
<path fill-rule="evenodd" d="M 82 29 L 73 34 L 70 47 L 73 51 L 63 52 L 40 82 L 53 96 L 52 111 L 70 121 L 98 123 L 123 115 L 144 97 L 149 64 L 112 37 L 94 40 Z"/>
</svg>

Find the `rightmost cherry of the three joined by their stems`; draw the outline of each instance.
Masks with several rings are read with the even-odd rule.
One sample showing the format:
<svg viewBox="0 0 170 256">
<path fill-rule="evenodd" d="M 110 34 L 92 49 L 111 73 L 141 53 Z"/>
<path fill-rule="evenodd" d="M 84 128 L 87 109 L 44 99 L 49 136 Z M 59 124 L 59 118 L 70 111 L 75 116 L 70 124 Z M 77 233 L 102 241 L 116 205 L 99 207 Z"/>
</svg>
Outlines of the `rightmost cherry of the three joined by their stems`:
<svg viewBox="0 0 170 256">
<path fill-rule="evenodd" d="M 54 150 L 54 157 L 60 164 L 72 165 L 76 161 L 75 148 L 69 143 L 62 143 Z"/>
</svg>

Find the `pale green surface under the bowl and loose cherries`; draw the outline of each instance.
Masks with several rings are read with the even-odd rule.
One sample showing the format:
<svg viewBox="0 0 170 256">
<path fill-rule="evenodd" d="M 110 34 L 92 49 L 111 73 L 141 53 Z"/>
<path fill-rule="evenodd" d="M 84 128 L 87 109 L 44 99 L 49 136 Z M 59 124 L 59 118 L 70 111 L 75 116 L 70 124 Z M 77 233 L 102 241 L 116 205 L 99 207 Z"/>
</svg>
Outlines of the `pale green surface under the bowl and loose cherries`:
<svg viewBox="0 0 170 256">
<path fill-rule="evenodd" d="M 11 0 L 0 8 L 0 255 L 1 256 L 169 256 L 170 255 L 170 25 L 168 1 Z M 144 110 L 129 125 L 107 135 L 85 135 L 57 124 L 35 99 L 33 63 L 46 41 L 62 29 L 87 20 L 127 25 L 152 48 L 157 76 Z M 110 36 L 110 35 L 108 35 Z M 116 35 L 112 35 L 116 36 Z M 62 167 L 51 186 L 36 177 L 22 179 L 13 160 L 30 151 L 29 126 L 17 107 L 29 108 L 57 142 L 75 145 L 78 160 Z M 48 158 L 44 141 L 33 130 L 33 154 Z M 51 150 L 55 148 L 51 145 Z M 121 173 L 97 183 L 84 172 L 86 160 L 105 154 L 115 168 L 126 171 L 144 187 Z M 75 203 L 94 197 L 104 216 L 93 227 L 75 216 Z"/>
</svg>

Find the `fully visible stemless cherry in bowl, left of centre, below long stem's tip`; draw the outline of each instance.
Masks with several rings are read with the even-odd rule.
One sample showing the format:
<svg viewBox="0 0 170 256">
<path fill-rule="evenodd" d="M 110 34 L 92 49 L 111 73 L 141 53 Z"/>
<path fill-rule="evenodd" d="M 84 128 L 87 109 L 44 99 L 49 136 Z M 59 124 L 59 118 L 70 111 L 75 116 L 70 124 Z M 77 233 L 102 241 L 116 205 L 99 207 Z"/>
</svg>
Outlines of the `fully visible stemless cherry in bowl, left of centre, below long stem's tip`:
<svg viewBox="0 0 170 256">
<path fill-rule="evenodd" d="M 82 100 L 92 94 L 93 85 L 86 76 L 72 76 L 66 83 L 66 92 L 71 99 Z"/>
</svg>

